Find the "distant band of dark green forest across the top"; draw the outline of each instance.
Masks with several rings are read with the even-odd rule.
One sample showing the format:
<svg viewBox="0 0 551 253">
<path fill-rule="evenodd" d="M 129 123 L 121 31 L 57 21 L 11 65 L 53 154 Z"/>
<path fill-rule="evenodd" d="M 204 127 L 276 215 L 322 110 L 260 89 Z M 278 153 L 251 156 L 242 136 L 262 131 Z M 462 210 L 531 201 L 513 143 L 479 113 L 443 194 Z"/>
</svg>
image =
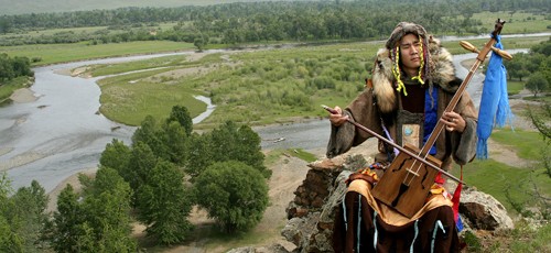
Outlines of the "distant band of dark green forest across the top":
<svg viewBox="0 0 551 253">
<path fill-rule="evenodd" d="M 480 34 L 487 29 L 472 18 L 474 13 L 527 10 L 551 19 L 543 0 L 255 2 L 30 13 L 0 16 L 0 34 L 9 33 L 0 45 L 168 40 L 202 48 L 206 44 L 374 40 L 385 37 L 401 20 L 422 21 L 434 34 Z M 162 28 L 162 23 L 173 25 Z M 23 34 L 68 28 L 101 29 Z"/>
</svg>

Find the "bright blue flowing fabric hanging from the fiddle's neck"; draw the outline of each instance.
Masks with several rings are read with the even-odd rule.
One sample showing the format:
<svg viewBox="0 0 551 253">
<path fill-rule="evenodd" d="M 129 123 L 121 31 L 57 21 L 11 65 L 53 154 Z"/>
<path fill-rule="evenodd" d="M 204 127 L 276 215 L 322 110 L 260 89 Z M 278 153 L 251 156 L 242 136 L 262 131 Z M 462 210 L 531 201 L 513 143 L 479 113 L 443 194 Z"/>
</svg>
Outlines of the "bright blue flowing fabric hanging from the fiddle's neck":
<svg viewBox="0 0 551 253">
<path fill-rule="evenodd" d="M 496 37 L 496 48 L 503 50 L 501 37 Z M 480 106 L 478 109 L 478 125 L 476 134 L 478 143 L 476 145 L 476 157 L 479 160 L 488 158 L 488 138 L 491 134 L 494 125 L 504 127 L 507 119 L 511 121 L 512 113 L 509 107 L 507 95 L 507 75 L 503 58 L 491 52 L 486 78 L 484 79 Z"/>
</svg>

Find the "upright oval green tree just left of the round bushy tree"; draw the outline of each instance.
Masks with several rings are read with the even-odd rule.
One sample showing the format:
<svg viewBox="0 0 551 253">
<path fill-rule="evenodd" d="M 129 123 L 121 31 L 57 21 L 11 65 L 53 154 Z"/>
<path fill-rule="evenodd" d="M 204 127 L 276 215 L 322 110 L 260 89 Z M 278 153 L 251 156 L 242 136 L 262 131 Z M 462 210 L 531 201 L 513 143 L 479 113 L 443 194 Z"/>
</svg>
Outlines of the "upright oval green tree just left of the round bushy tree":
<svg viewBox="0 0 551 253">
<path fill-rule="evenodd" d="M 148 237 L 162 244 L 184 241 L 193 228 L 187 220 L 191 194 L 184 186 L 184 175 L 173 164 L 159 162 L 137 194 L 138 219 L 148 227 Z"/>
</svg>

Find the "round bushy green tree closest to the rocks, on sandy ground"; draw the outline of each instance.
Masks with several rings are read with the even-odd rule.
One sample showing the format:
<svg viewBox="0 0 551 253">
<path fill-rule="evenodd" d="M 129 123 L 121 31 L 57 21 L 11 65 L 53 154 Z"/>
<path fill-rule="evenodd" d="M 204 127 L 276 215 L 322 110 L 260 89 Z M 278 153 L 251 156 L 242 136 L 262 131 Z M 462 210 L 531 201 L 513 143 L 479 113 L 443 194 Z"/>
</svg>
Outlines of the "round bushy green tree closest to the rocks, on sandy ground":
<svg viewBox="0 0 551 253">
<path fill-rule="evenodd" d="M 256 226 L 268 207 L 268 185 L 258 169 L 237 161 L 215 163 L 194 184 L 197 204 L 227 233 Z"/>
</svg>

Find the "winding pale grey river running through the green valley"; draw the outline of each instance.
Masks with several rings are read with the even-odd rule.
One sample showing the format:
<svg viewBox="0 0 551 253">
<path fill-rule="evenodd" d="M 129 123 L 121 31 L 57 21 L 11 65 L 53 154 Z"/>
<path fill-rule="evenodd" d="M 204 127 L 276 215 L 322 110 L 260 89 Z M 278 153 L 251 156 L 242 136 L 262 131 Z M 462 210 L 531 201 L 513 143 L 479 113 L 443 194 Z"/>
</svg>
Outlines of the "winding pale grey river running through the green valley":
<svg viewBox="0 0 551 253">
<path fill-rule="evenodd" d="M 71 77 L 60 75 L 58 72 L 90 64 L 128 62 L 174 54 L 194 53 L 87 61 L 33 69 L 35 84 L 31 90 L 37 99 L 0 107 L 0 172 L 8 172 L 12 188 L 29 186 L 36 179 L 48 193 L 68 176 L 97 167 L 100 153 L 112 139 L 130 143 L 136 128 L 112 122 L 97 113 L 100 106 L 100 89 L 96 85 L 98 78 Z M 468 72 L 460 63 L 475 56 L 475 54 L 454 56 L 460 77 L 466 76 Z M 483 78 L 483 75 L 475 75 L 467 88 L 474 99 L 479 99 Z M 196 99 L 207 103 L 207 111 L 193 119 L 194 123 L 207 118 L 215 109 L 208 98 L 196 97 Z M 475 101 L 475 105 L 478 102 Z M 329 135 L 326 120 L 255 130 L 262 139 L 262 148 L 323 148 Z"/>
</svg>

